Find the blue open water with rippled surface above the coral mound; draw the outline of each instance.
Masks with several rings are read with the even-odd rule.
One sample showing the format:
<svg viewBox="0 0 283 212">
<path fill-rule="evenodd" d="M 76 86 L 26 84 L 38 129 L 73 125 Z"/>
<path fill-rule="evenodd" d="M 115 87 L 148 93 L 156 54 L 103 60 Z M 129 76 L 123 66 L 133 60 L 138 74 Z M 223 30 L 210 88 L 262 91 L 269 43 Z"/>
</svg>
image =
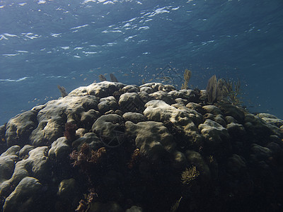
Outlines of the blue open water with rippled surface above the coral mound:
<svg viewBox="0 0 283 212">
<path fill-rule="evenodd" d="M 282 0 L 0 1 L 0 124 L 59 98 L 58 84 L 141 84 L 167 64 L 190 69 L 192 88 L 240 78 L 250 112 L 283 119 L 282 35 Z"/>
</svg>

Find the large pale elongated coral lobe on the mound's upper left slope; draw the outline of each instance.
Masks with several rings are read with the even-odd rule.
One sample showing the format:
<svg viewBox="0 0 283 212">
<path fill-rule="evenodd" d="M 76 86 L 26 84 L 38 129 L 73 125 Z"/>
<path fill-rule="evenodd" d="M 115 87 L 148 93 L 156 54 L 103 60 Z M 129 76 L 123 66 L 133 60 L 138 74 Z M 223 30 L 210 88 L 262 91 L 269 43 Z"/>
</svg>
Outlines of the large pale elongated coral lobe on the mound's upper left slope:
<svg viewBox="0 0 283 212">
<path fill-rule="evenodd" d="M 37 114 L 38 126 L 30 134 L 33 146 L 50 145 L 63 136 L 64 124 L 80 123 L 81 117 L 88 110 L 95 110 L 98 105 L 96 96 L 71 96 L 47 102 Z"/>
</svg>

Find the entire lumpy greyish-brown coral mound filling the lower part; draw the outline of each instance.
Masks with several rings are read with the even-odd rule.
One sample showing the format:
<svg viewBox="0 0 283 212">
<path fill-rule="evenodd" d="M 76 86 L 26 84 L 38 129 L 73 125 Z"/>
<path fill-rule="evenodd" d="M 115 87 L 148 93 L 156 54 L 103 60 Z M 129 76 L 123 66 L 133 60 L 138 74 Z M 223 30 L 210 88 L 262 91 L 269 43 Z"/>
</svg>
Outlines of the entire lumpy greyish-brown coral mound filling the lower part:
<svg viewBox="0 0 283 212">
<path fill-rule="evenodd" d="M 0 126 L 0 211 L 282 211 L 283 121 L 103 81 Z"/>
</svg>

